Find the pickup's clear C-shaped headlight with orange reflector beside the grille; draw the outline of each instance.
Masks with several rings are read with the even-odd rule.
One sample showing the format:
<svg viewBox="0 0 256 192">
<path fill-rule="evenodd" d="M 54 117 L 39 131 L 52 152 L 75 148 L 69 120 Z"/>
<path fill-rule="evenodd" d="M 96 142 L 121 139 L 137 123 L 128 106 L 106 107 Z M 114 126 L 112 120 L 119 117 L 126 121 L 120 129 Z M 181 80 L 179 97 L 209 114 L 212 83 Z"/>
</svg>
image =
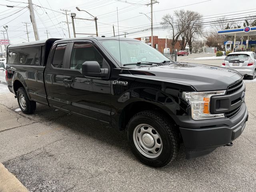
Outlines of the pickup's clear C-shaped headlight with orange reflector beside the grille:
<svg viewBox="0 0 256 192">
<path fill-rule="evenodd" d="M 209 92 L 182 92 L 182 97 L 191 105 L 192 119 L 222 118 L 224 114 L 210 114 L 211 96 L 224 95 L 226 90 Z"/>
</svg>

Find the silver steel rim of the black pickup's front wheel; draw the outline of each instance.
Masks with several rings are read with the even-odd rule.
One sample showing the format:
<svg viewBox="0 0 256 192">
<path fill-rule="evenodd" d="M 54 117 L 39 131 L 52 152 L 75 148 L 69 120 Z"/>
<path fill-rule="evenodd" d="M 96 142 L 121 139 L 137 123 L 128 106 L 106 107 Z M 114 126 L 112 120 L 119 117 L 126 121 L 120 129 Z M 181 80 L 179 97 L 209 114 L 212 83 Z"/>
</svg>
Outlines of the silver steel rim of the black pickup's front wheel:
<svg viewBox="0 0 256 192">
<path fill-rule="evenodd" d="M 133 141 L 137 150 L 148 158 L 156 158 L 162 152 L 162 139 L 148 124 L 139 124 L 133 131 Z"/>
</svg>

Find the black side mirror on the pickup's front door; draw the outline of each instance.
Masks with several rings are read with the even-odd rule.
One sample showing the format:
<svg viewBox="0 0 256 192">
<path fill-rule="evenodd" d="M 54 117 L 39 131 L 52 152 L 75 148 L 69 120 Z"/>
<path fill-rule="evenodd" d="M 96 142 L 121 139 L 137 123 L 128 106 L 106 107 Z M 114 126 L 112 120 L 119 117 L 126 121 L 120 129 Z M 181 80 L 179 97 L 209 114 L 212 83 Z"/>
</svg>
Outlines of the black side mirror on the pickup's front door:
<svg viewBox="0 0 256 192">
<path fill-rule="evenodd" d="M 96 61 L 86 61 L 82 64 L 82 74 L 91 77 L 106 77 L 108 76 L 108 69 L 101 69 L 100 64 Z"/>
</svg>

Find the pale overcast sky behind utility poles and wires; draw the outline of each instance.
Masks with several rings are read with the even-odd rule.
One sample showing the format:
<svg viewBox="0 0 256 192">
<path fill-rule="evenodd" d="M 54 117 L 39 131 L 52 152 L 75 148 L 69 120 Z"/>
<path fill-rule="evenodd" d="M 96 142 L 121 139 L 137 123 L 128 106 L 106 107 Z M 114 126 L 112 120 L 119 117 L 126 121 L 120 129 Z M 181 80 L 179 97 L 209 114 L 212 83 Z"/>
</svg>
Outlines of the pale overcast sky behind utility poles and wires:
<svg viewBox="0 0 256 192">
<path fill-rule="evenodd" d="M 201 13 L 207 20 L 209 17 L 222 16 L 228 12 L 235 12 L 229 14 L 236 14 L 237 11 L 251 12 L 250 14 L 256 14 L 256 1 L 255 0 L 158 0 L 159 3 L 153 6 L 154 26 L 160 26 L 161 18 L 164 14 L 172 14 L 174 10 L 184 9 L 193 10 Z M 22 3 L 24 2 L 24 3 Z M 30 15 L 27 0 L 0 0 L 0 28 L 4 30 L 3 25 L 8 25 L 8 35 L 11 43 L 26 42 L 27 35 L 25 33 L 26 26 L 22 22 L 30 22 Z M 116 8 L 118 7 L 119 17 L 119 32 L 124 34 L 128 32 L 126 37 L 145 37 L 150 36 L 150 30 L 140 32 L 138 34 L 129 34 L 138 30 L 150 28 L 150 20 L 140 12 L 147 14 L 150 17 L 150 6 L 145 4 L 150 3 L 150 0 L 32 0 L 33 4 L 44 7 L 40 8 L 34 6 L 36 23 L 38 26 L 40 40 L 46 39 L 46 30 L 48 30 L 49 38 L 68 38 L 68 27 L 66 22 L 66 16 L 61 14 L 60 9 L 71 10 L 76 13 L 77 17 L 90 19 L 90 15 L 86 12 L 79 12 L 76 10 L 78 6 L 81 10 L 86 10 L 93 16 L 98 18 L 98 33 L 99 35 L 113 36 L 112 24 L 114 24 L 115 33 L 118 34 L 117 27 L 117 15 Z M 201 3 L 200 3 L 201 2 Z M 198 4 L 196 4 L 198 3 Z M 194 5 L 191 5 L 194 4 Z M 9 8 L 6 5 L 15 6 Z M 188 6 L 187 6 L 188 5 Z M 184 6 L 184 7 L 180 7 Z M 58 12 L 54 12 L 52 10 Z M 168 10 L 166 10 L 168 9 Z M 250 10 L 248 10 L 250 9 Z M 254 9 L 254 10 L 252 10 Z M 18 12 L 20 10 L 20 12 Z M 248 10 L 248 11 L 246 11 Z M 16 13 L 18 12 L 18 13 Z M 231 17 L 240 17 L 242 12 L 237 12 L 236 15 Z M 16 14 L 14 14 L 16 13 Z M 68 12 L 70 13 L 70 12 Z M 13 14 L 13 15 L 12 15 Z M 216 15 L 220 14 L 220 15 Z M 12 16 L 11 16 L 12 15 Z M 214 16 L 211 16 L 214 15 Z M 71 17 L 68 16 L 69 22 Z M 212 19 L 208 19 L 212 20 Z M 76 33 L 95 33 L 94 21 L 75 20 Z M 28 26 L 29 39 L 34 41 L 34 32 L 32 24 Z M 73 37 L 72 24 L 70 24 L 70 34 Z M 168 35 L 167 30 L 156 30 L 154 35 L 165 38 Z M 88 36 L 88 35 L 77 35 Z M 3 38 L 1 34 L 0 38 Z"/>
</svg>

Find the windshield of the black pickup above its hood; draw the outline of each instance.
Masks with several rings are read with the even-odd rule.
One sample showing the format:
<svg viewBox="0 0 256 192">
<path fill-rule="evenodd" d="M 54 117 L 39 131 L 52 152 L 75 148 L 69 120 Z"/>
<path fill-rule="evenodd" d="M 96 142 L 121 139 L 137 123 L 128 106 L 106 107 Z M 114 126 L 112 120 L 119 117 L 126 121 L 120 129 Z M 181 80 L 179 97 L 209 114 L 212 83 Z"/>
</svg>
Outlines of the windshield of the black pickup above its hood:
<svg viewBox="0 0 256 192">
<path fill-rule="evenodd" d="M 99 42 L 119 65 L 122 63 L 122 66 L 124 64 L 137 64 L 138 62 L 163 62 L 169 60 L 162 53 L 141 41 L 122 40 L 120 41 L 120 49 L 118 40 L 102 40 Z"/>
</svg>

